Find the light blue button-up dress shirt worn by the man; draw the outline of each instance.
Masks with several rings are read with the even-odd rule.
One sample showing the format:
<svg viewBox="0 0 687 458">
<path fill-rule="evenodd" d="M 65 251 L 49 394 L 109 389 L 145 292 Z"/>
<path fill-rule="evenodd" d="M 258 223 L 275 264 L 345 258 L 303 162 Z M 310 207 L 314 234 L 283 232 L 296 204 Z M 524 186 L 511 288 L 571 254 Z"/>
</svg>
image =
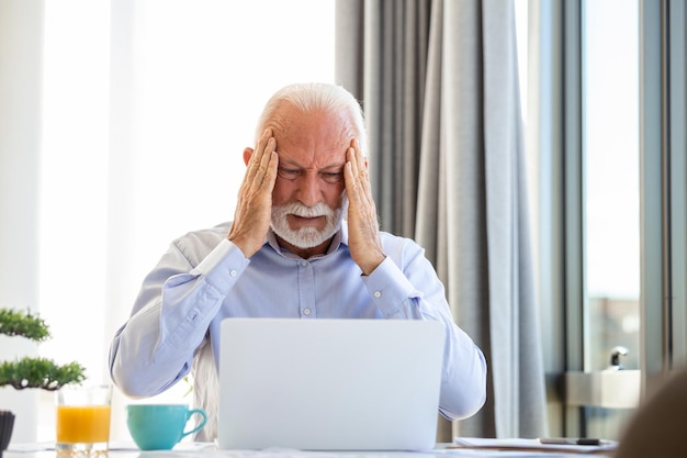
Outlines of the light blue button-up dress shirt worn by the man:
<svg viewBox="0 0 687 458">
<path fill-rule="evenodd" d="M 247 259 L 227 239 L 229 227 L 176 239 L 145 278 L 110 349 L 112 379 L 125 394 L 149 396 L 170 388 L 206 344 L 217 365 L 226 317 L 399 319 L 446 326 L 441 414 L 466 417 L 484 404 L 484 355 L 455 325 L 443 286 L 415 242 L 381 233 L 386 259 L 363 276 L 350 257 L 346 222 L 328 252 L 311 259 L 281 249 L 272 232 Z"/>
</svg>

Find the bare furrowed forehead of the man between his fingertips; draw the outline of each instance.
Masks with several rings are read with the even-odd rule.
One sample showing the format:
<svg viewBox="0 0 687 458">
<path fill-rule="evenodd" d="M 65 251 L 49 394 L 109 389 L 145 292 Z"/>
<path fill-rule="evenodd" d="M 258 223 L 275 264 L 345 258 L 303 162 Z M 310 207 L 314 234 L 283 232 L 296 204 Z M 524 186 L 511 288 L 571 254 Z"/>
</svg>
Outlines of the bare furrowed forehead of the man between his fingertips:
<svg viewBox="0 0 687 458">
<path fill-rule="evenodd" d="M 354 137 L 352 123 L 333 111 L 304 112 L 284 104 L 268 126 L 272 127 L 280 160 L 304 167 L 346 163 L 346 150 Z"/>
</svg>

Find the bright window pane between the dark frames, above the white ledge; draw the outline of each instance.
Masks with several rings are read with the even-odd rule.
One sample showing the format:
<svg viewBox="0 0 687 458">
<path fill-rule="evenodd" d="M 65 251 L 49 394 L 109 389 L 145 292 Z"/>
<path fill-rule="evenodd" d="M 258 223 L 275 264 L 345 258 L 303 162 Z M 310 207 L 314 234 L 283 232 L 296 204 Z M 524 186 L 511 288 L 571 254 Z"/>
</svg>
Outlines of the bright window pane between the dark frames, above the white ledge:
<svg viewBox="0 0 687 458">
<path fill-rule="evenodd" d="M 611 353 L 640 368 L 639 5 L 586 1 L 582 16 L 584 369 Z M 616 437 L 630 412 L 586 407 L 587 434 Z"/>
</svg>

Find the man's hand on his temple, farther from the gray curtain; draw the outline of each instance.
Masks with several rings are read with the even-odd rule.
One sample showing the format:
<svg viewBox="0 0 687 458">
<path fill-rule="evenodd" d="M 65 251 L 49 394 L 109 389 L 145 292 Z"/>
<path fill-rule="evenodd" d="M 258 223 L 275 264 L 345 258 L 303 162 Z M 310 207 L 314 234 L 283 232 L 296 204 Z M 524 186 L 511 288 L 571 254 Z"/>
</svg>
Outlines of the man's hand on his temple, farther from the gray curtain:
<svg viewBox="0 0 687 458">
<path fill-rule="evenodd" d="M 272 130 L 264 131 L 255 150 L 246 148 L 244 160 L 248 167 L 238 190 L 228 239 L 250 258 L 264 244 L 272 217 L 272 190 L 279 165 Z"/>
</svg>

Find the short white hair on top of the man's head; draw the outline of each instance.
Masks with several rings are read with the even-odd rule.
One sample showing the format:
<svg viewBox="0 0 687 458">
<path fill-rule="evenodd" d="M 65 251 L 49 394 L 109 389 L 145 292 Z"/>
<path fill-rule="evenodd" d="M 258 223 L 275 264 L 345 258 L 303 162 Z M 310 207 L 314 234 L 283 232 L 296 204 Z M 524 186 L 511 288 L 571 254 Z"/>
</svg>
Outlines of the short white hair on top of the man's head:
<svg viewBox="0 0 687 458">
<path fill-rule="evenodd" d="M 354 135 L 358 137 L 361 152 L 363 156 L 368 156 L 368 133 L 360 103 L 341 86 L 327 82 L 289 85 L 277 91 L 264 104 L 262 113 L 258 118 L 255 133 L 256 144 L 282 102 L 286 102 L 305 113 L 325 111 L 348 114 L 347 118 L 350 120 Z"/>
</svg>

